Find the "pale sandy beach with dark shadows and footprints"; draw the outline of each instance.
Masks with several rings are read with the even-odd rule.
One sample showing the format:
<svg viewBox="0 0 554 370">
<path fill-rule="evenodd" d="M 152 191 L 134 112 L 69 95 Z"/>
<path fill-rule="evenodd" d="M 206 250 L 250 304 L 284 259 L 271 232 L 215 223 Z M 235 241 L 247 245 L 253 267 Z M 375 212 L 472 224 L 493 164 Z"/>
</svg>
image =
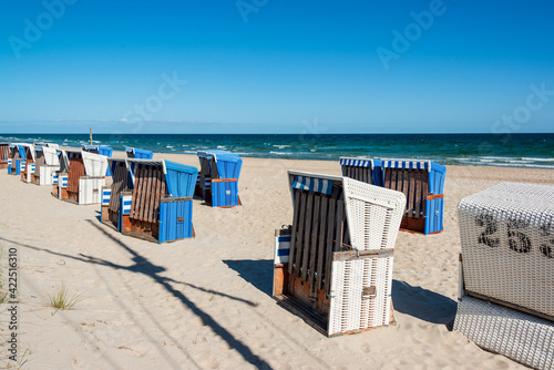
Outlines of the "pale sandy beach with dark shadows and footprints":
<svg viewBox="0 0 554 370">
<path fill-rule="evenodd" d="M 114 156 L 123 156 L 116 153 Z M 198 166 L 196 156 L 155 154 Z M 340 175 L 338 162 L 244 158 L 243 206 L 194 201 L 196 237 L 157 245 L 99 222 L 51 186 L 0 171 L 1 278 L 18 258 L 22 369 L 517 369 L 451 331 L 458 295 L 460 199 L 504 181 L 554 185 L 554 171 L 448 166 L 444 230 L 400 233 L 397 325 L 326 338 L 271 298 L 274 230 L 293 217 L 287 169 Z M 54 311 L 64 285 L 84 298 Z M 10 330 L 0 306 L 2 342 Z M 6 343 L 2 343 L 6 346 Z M 0 366 L 17 368 L 0 347 Z"/>
</svg>

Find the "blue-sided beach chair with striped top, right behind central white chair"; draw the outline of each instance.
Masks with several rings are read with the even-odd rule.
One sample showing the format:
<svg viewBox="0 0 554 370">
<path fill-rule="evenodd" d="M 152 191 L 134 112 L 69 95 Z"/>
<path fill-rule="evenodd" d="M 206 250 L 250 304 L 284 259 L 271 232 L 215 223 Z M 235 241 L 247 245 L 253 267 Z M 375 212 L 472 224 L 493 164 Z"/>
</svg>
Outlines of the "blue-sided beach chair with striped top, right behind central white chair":
<svg viewBox="0 0 554 370">
<path fill-rule="evenodd" d="M 433 161 L 381 160 L 383 186 L 404 193 L 403 230 L 437 234 L 443 226 L 447 167 Z"/>
</svg>

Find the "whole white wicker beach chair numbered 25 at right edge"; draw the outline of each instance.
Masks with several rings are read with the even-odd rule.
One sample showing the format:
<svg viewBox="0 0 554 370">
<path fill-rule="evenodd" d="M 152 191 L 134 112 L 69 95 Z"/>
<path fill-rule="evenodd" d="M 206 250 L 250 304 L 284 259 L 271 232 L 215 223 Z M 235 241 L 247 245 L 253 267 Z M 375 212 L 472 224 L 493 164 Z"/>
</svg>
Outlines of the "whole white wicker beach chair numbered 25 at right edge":
<svg viewBox="0 0 554 370">
<path fill-rule="evenodd" d="M 535 369 L 554 368 L 554 186 L 502 183 L 458 206 L 454 329 Z"/>
</svg>

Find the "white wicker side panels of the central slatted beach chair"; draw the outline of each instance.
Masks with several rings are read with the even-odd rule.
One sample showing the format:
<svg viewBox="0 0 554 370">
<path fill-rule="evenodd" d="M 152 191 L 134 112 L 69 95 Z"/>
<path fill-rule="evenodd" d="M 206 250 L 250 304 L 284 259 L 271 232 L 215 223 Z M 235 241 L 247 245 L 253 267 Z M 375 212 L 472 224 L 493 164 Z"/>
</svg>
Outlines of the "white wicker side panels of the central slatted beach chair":
<svg viewBox="0 0 554 370">
<path fill-rule="evenodd" d="M 394 248 L 406 197 L 400 192 L 343 177 L 352 246 L 359 250 Z M 393 257 L 334 261 L 329 335 L 389 323 Z M 363 289 L 375 287 L 375 294 Z"/>
</svg>

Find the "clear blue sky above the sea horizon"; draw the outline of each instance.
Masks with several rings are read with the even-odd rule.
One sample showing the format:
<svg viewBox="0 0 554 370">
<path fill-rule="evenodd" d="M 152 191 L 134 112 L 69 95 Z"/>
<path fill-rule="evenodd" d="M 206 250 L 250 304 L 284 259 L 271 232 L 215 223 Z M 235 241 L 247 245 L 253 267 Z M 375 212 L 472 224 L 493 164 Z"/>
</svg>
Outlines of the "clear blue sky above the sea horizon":
<svg viewBox="0 0 554 370">
<path fill-rule="evenodd" d="M 551 1 L 2 1 L 0 133 L 554 132 Z"/>
</svg>

